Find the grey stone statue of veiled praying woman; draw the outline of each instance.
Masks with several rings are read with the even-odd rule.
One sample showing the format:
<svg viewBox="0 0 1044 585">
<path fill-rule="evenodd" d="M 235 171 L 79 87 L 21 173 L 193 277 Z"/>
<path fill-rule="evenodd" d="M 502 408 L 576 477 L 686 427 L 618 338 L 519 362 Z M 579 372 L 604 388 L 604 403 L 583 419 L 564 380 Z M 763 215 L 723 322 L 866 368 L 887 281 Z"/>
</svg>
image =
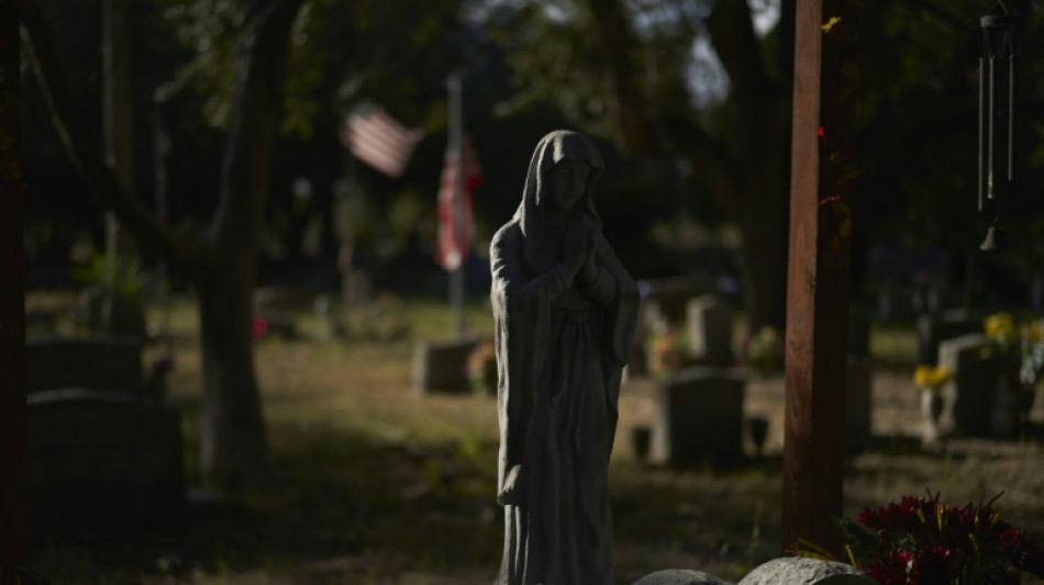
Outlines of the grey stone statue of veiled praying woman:
<svg viewBox="0 0 1044 585">
<path fill-rule="evenodd" d="M 612 583 L 607 476 L 638 292 L 595 211 L 602 168 L 586 136 L 544 136 L 490 246 L 506 524 L 497 584 Z"/>
</svg>

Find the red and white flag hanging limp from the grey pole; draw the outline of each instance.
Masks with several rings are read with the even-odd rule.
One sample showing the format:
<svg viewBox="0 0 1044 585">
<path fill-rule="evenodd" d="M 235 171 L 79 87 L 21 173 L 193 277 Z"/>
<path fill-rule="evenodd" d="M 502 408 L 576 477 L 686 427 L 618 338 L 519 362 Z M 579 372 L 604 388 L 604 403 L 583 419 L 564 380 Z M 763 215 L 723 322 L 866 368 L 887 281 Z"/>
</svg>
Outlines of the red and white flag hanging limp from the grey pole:
<svg viewBox="0 0 1044 585">
<path fill-rule="evenodd" d="M 457 189 L 457 151 L 446 151 L 442 169 L 442 185 L 438 189 L 438 249 L 436 260 L 448 271 L 464 263 L 475 236 L 475 218 L 471 213 L 471 191 L 482 182 L 482 169 L 471 142 L 464 139 L 464 182 Z M 459 193 L 462 196 L 457 196 Z"/>
</svg>

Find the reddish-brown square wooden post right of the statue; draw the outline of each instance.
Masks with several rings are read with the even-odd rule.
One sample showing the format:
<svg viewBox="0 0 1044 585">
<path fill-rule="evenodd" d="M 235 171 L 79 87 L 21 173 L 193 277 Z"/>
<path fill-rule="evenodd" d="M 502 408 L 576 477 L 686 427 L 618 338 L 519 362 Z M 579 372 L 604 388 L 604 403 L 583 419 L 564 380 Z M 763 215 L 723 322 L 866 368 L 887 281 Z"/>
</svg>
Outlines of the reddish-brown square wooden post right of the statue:
<svg viewBox="0 0 1044 585">
<path fill-rule="evenodd" d="M 855 60 L 853 0 L 797 2 L 784 551 L 806 539 L 840 552 Z"/>
</svg>

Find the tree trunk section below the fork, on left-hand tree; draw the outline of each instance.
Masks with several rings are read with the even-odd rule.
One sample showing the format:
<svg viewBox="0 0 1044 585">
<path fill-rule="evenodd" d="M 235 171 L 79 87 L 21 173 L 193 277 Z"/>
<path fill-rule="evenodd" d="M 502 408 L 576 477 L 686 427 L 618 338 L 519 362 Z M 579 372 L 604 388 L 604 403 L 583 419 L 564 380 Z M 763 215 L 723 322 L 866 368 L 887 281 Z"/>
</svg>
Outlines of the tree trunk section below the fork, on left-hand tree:
<svg viewBox="0 0 1044 585">
<path fill-rule="evenodd" d="M 232 259 L 197 280 L 203 357 L 203 480 L 220 488 L 256 485 L 267 473 L 268 443 L 251 337 L 253 278 Z"/>
</svg>

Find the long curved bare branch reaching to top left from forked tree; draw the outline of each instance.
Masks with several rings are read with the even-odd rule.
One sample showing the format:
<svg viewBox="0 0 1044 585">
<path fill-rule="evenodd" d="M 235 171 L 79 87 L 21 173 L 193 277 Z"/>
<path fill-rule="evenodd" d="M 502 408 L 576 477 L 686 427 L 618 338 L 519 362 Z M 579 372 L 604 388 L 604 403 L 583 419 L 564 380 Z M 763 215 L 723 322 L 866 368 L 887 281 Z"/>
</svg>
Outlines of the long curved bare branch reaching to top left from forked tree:
<svg viewBox="0 0 1044 585">
<path fill-rule="evenodd" d="M 40 2 L 23 2 L 22 41 L 33 64 L 44 101 L 73 166 L 87 181 L 93 199 L 111 209 L 144 246 L 167 257 L 192 275 L 204 254 L 200 243 L 156 221 L 148 210 L 124 189 L 102 158 L 101 136 L 92 132 L 77 110 L 76 100 L 55 52 L 51 29 Z"/>
</svg>

